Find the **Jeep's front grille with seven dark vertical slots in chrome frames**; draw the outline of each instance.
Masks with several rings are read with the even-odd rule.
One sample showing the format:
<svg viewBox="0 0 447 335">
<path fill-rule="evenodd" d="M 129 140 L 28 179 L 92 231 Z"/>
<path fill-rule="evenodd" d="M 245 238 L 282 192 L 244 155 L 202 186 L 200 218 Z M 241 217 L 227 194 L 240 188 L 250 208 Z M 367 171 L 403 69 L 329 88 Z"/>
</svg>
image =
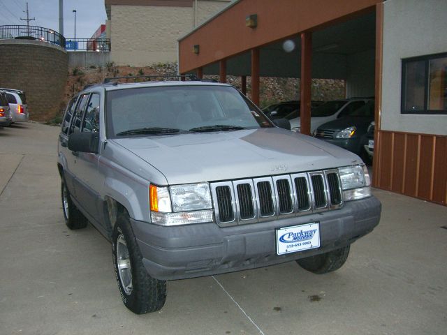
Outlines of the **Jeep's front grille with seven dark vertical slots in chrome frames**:
<svg viewBox="0 0 447 335">
<path fill-rule="evenodd" d="M 338 170 L 211 183 L 217 223 L 254 223 L 342 207 Z"/>
</svg>

